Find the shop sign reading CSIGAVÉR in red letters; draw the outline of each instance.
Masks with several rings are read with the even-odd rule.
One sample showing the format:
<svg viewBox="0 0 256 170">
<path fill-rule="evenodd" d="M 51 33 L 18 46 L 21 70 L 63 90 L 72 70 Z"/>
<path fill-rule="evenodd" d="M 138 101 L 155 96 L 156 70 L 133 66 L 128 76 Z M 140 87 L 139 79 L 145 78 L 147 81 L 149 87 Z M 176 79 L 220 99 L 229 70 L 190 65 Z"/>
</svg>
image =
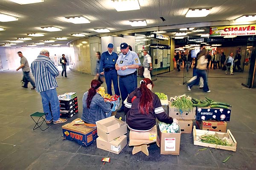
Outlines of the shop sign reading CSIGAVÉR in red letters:
<svg viewBox="0 0 256 170">
<path fill-rule="evenodd" d="M 210 37 L 212 36 L 245 36 L 256 35 L 256 24 L 239 26 L 217 26 L 210 27 Z"/>
</svg>

